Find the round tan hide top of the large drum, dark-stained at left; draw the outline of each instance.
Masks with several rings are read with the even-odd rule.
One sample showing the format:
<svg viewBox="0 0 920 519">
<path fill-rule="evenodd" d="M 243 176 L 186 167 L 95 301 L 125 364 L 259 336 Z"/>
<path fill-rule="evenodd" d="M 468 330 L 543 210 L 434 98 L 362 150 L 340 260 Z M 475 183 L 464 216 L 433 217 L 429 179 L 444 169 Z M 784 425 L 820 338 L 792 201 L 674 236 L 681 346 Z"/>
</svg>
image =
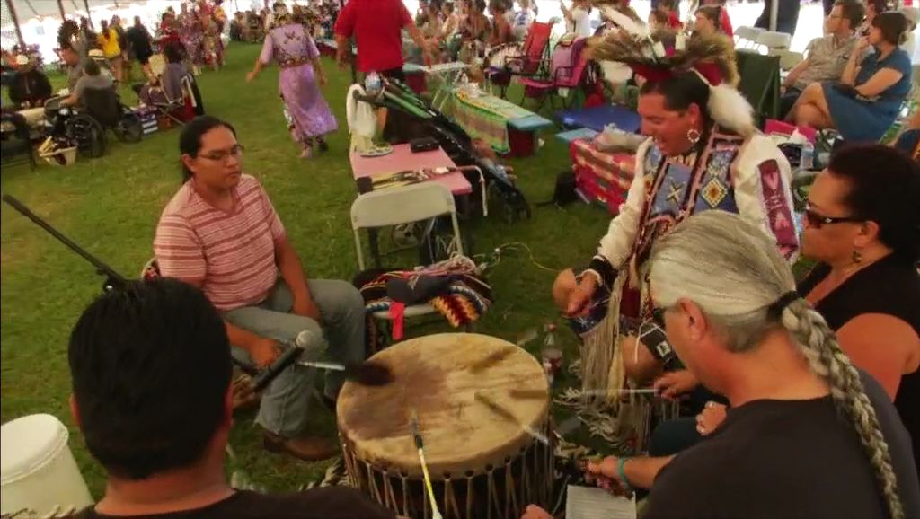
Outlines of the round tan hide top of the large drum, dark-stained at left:
<svg viewBox="0 0 920 519">
<path fill-rule="evenodd" d="M 489 355 L 500 360 L 475 369 Z M 378 352 L 396 381 L 383 387 L 347 383 L 339 395 L 339 431 L 363 461 L 389 473 L 420 477 L 409 417 L 419 417 L 431 477 L 480 474 L 534 442 L 522 424 L 543 431 L 549 410 L 546 375 L 528 352 L 505 340 L 445 333 L 407 340 Z M 529 398 L 514 398 L 511 389 Z M 510 411 L 501 416 L 477 393 Z"/>
</svg>

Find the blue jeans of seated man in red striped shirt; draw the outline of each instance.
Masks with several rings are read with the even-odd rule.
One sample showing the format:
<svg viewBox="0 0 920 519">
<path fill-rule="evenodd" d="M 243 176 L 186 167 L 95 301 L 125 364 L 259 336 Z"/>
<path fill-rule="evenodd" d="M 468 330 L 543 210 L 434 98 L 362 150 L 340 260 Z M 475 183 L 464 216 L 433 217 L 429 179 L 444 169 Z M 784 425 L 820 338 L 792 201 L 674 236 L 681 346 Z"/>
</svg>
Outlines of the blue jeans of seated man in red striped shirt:
<svg viewBox="0 0 920 519">
<path fill-rule="evenodd" d="M 309 317 L 291 313 L 293 294 L 281 280 L 271 289 L 265 301 L 257 306 L 230 310 L 224 314 L 224 319 L 262 337 L 289 344 L 301 331 L 310 330 L 317 341 L 328 341 L 327 353 L 333 361 L 364 360 L 364 300 L 358 289 L 343 281 L 310 280 L 307 285 L 319 308 L 322 326 Z M 232 352 L 236 359 L 252 362 L 242 348 L 234 346 Z M 285 438 L 303 435 L 315 377 L 316 369 L 299 364 L 293 364 L 278 375 L 262 393 L 256 418 L 259 425 Z M 341 372 L 328 371 L 325 382 L 326 396 L 336 398 L 345 379 Z"/>
</svg>

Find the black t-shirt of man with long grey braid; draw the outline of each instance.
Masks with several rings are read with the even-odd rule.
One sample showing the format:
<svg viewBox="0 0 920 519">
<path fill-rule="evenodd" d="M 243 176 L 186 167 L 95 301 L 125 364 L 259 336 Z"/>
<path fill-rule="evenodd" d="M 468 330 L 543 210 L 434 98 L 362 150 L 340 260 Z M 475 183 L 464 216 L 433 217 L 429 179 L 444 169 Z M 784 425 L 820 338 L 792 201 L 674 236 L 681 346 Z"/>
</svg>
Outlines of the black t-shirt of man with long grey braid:
<svg viewBox="0 0 920 519">
<path fill-rule="evenodd" d="M 907 517 L 920 517 L 911 443 L 878 382 L 861 374 L 889 445 Z M 868 456 L 831 397 L 755 400 L 661 469 L 643 519 L 888 516 Z"/>
</svg>

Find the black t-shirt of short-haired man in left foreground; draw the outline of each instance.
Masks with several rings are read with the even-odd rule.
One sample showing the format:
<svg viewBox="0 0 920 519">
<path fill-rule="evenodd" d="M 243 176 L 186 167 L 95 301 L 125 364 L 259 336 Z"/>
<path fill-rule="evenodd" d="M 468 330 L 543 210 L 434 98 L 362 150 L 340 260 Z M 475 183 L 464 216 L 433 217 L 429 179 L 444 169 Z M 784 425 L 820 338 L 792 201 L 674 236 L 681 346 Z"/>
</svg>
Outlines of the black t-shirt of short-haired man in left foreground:
<svg viewBox="0 0 920 519">
<path fill-rule="evenodd" d="M 325 487 L 291 494 L 237 491 L 221 502 L 197 510 L 156 515 L 114 516 L 92 507 L 77 519 L 393 519 L 386 510 L 358 490 Z"/>
</svg>

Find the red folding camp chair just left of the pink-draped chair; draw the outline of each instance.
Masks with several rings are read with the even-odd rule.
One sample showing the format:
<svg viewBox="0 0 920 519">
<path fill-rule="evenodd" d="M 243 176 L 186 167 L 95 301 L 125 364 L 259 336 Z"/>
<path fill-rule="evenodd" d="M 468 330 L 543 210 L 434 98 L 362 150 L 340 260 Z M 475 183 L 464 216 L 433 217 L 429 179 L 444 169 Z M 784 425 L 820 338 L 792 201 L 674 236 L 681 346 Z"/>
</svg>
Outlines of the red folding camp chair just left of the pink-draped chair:
<svg viewBox="0 0 920 519">
<path fill-rule="evenodd" d="M 500 88 L 500 98 L 505 97 L 512 75 L 529 76 L 540 72 L 552 32 L 553 22 L 534 22 L 520 47 L 517 43 L 508 43 L 489 51 L 491 57 L 485 75 L 489 85 Z"/>
</svg>

